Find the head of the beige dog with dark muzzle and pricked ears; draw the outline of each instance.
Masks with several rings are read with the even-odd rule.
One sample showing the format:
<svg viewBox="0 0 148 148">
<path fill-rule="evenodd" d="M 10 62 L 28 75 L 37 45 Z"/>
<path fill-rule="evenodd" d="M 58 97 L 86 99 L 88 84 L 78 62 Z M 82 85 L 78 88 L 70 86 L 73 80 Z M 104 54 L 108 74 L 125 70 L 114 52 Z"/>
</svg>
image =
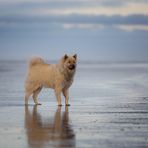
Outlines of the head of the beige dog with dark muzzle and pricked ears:
<svg viewBox="0 0 148 148">
<path fill-rule="evenodd" d="M 68 72 L 75 71 L 77 65 L 77 55 L 68 56 L 65 54 L 63 57 L 63 65 Z"/>
</svg>

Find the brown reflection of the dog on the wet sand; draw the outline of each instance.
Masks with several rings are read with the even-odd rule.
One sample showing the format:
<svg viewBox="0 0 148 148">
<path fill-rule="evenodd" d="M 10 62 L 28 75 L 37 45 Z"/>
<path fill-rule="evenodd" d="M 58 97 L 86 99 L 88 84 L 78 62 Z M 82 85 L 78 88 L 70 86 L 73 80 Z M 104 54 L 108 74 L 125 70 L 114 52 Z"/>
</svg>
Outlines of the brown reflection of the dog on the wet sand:
<svg viewBox="0 0 148 148">
<path fill-rule="evenodd" d="M 58 107 L 54 117 L 44 119 L 37 106 L 25 107 L 25 128 L 29 147 L 75 147 L 75 134 L 69 123 L 68 107 Z"/>
</svg>

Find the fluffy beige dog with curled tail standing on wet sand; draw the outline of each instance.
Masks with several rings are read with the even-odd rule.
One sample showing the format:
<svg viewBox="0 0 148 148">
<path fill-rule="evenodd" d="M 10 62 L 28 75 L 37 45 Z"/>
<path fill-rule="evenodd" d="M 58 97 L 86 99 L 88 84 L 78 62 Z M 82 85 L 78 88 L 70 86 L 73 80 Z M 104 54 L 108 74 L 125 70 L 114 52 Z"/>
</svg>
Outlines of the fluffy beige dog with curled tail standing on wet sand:
<svg viewBox="0 0 148 148">
<path fill-rule="evenodd" d="M 69 100 L 68 89 L 71 86 L 76 71 L 77 55 L 61 58 L 57 64 L 47 64 L 41 58 L 34 58 L 29 63 L 28 75 L 25 83 L 25 104 L 32 95 L 34 103 L 38 103 L 37 96 L 43 87 L 53 88 L 61 106 L 61 93 L 65 96 L 65 104 Z"/>
</svg>

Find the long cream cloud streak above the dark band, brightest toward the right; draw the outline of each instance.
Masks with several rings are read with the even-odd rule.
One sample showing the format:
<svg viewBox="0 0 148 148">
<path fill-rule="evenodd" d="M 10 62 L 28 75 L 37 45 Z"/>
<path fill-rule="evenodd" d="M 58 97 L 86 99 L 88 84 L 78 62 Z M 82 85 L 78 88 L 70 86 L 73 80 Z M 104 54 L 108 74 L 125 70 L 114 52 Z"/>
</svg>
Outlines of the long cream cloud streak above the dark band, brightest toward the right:
<svg viewBox="0 0 148 148">
<path fill-rule="evenodd" d="M 81 6 L 81 7 L 67 7 L 67 8 L 34 8 L 30 9 L 25 14 L 28 15 L 40 15 L 40 16 L 52 16 L 52 15 L 148 15 L 148 4 L 138 4 L 138 3 L 130 3 L 127 5 L 123 5 L 122 7 L 112 7 L 112 6 Z"/>
</svg>

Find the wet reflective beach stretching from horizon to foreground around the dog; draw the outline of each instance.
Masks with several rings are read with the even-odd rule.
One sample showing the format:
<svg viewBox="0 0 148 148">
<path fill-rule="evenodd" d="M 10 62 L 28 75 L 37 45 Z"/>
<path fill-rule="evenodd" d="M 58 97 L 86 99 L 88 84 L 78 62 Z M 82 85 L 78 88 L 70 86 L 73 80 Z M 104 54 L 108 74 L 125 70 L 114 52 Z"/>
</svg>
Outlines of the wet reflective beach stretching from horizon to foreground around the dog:
<svg viewBox="0 0 148 148">
<path fill-rule="evenodd" d="M 79 62 L 70 107 L 53 90 L 24 106 L 26 61 L 0 62 L 0 147 L 148 147 L 148 63 Z"/>
</svg>

